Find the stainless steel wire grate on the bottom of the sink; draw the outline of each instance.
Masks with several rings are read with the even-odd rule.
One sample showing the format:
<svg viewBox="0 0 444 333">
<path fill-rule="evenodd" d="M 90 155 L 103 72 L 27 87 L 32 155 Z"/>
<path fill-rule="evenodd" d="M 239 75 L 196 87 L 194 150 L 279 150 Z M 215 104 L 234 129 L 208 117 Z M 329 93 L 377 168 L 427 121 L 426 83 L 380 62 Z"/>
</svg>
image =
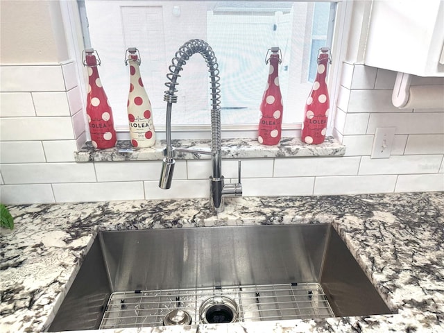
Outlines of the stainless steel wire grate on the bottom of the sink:
<svg viewBox="0 0 444 333">
<path fill-rule="evenodd" d="M 228 296 L 237 302 L 238 321 L 334 316 L 317 283 L 127 291 L 112 293 L 100 328 L 160 326 L 164 316 L 178 307 L 191 315 L 192 323 L 200 323 L 199 307 L 211 296 Z"/>
</svg>

